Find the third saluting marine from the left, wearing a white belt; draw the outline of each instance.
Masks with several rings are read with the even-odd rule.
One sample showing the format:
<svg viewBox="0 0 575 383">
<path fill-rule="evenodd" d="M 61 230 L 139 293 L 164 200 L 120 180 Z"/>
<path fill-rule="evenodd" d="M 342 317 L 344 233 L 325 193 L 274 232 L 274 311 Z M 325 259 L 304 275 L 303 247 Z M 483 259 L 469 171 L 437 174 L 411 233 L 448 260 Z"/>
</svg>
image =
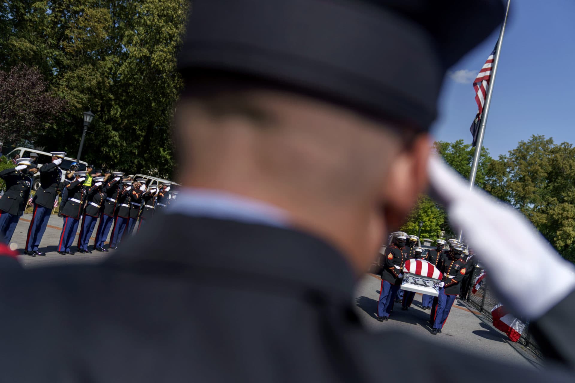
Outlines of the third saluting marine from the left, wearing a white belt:
<svg viewBox="0 0 575 383">
<path fill-rule="evenodd" d="M 74 175 L 76 179 L 66 185 L 68 200 L 62 211 L 64 222 L 57 248 L 58 253 L 72 256 L 74 252 L 72 252 L 70 246 L 72 246 L 74 238 L 76 238 L 76 230 L 80 219 L 82 219 L 84 202 L 86 202 L 86 189 L 83 186 L 83 182 L 86 180 L 86 172 L 75 172 Z"/>
</svg>

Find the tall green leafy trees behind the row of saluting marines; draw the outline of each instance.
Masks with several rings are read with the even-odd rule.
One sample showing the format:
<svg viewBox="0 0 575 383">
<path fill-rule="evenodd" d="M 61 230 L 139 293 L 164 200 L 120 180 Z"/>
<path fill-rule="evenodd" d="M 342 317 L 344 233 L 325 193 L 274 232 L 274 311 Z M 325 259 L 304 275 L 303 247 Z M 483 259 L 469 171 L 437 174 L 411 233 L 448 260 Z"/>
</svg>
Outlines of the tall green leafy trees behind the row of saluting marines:
<svg viewBox="0 0 575 383">
<path fill-rule="evenodd" d="M 82 112 L 96 115 L 83 160 L 128 173 L 171 177 L 176 57 L 189 2 L 183 0 L 4 1 L 0 66 L 32 65 L 66 99 L 34 145 L 77 152 Z"/>
</svg>

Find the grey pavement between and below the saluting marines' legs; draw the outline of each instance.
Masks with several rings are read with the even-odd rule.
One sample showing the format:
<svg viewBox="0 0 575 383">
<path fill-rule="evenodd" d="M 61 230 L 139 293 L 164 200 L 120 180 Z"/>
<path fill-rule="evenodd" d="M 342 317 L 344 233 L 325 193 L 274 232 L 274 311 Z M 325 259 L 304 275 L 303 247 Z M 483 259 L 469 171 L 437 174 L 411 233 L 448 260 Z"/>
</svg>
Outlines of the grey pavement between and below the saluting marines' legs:
<svg viewBox="0 0 575 383">
<path fill-rule="evenodd" d="M 12 240 L 10 242 L 11 247 L 15 247 L 17 252 L 22 254 L 18 256 L 20 262 L 25 265 L 26 267 L 33 267 L 33 266 L 47 266 L 47 265 L 56 265 L 56 264 L 72 264 L 72 263 L 82 263 L 82 262 L 101 262 L 104 260 L 108 254 L 112 253 L 114 250 L 110 250 L 109 253 L 100 253 L 100 252 L 93 252 L 92 254 L 81 254 L 76 252 L 76 242 L 78 242 L 78 235 L 80 233 L 80 227 L 78 225 L 78 231 L 76 232 L 76 238 L 74 239 L 74 245 L 72 246 L 72 252 L 76 252 L 74 256 L 66 255 L 63 256 L 62 254 L 56 253 L 58 243 L 60 241 L 60 234 L 62 234 L 62 225 L 63 219 L 58 218 L 56 214 L 52 214 L 50 216 L 50 220 L 48 222 L 48 227 L 46 227 L 46 231 L 44 233 L 44 237 L 42 237 L 42 241 L 40 242 L 39 250 L 41 252 L 45 252 L 45 257 L 30 257 L 24 255 L 24 247 L 26 246 L 26 235 L 28 235 L 28 227 L 30 226 L 30 220 L 32 219 L 32 214 L 24 214 L 18 221 L 18 226 L 16 226 L 16 230 L 14 230 L 14 235 L 12 236 Z M 82 222 L 80 222 L 81 224 Z M 98 228 L 98 222 L 94 228 L 94 233 L 92 233 L 92 238 L 90 239 L 90 245 L 88 246 L 88 250 L 92 250 L 94 245 L 94 236 L 96 229 Z M 112 229 L 110 229 L 110 233 L 112 233 Z M 110 234 L 108 234 L 107 240 L 109 241 Z"/>
</svg>

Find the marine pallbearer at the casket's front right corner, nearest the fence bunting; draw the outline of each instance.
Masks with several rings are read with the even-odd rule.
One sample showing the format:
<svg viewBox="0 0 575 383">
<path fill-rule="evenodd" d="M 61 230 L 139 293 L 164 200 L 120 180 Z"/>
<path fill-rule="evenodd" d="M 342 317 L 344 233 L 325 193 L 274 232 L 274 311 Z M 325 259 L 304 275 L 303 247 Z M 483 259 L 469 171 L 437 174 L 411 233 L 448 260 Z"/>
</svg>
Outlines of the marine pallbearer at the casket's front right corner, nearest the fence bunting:
<svg viewBox="0 0 575 383">
<path fill-rule="evenodd" d="M 461 257 L 463 246 L 453 243 L 450 251 L 443 255 L 439 271 L 443 273 L 439 296 L 435 297 L 431 310 L 432 334 L 440 334 L 449 316 L 455 298 L 461 292 L 461 280 L 465 276 L 466 264 Z"/>
</svg>

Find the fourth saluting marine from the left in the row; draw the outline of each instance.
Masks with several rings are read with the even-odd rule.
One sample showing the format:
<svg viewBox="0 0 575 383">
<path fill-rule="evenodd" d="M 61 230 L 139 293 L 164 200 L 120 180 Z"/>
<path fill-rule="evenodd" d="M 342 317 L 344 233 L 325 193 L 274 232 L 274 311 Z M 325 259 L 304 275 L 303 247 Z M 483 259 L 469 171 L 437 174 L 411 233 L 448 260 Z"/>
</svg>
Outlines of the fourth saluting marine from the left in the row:
<svg viewBox="0 0 575 383">
<path fill-rule="evenodd" d="M 78 252 L 82 254 L 92 253 L 88 250 L 88 243 L 106 200 L 106 194 L 103 191 L 104 177 L 93 177 L 92 182 L 93 185 L 86 192 L 86 207 L 84 208 L 80 235 L 78 235 Z"/>
</svg>

